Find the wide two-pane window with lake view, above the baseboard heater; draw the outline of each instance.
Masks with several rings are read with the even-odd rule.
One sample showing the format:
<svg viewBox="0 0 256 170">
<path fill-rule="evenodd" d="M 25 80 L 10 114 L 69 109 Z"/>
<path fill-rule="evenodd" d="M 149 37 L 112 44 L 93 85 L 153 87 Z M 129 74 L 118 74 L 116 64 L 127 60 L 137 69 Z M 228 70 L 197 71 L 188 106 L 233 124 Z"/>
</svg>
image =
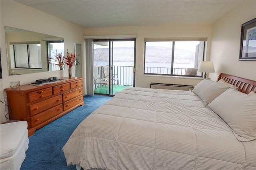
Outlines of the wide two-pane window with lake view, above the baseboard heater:
<svg viewBox="0 0 256 170">
<path fill-rule="evenodd" d="M 144 74 L 202 77 L 198 73 L 207 39 L 145 38 Z"/>
</svg>

